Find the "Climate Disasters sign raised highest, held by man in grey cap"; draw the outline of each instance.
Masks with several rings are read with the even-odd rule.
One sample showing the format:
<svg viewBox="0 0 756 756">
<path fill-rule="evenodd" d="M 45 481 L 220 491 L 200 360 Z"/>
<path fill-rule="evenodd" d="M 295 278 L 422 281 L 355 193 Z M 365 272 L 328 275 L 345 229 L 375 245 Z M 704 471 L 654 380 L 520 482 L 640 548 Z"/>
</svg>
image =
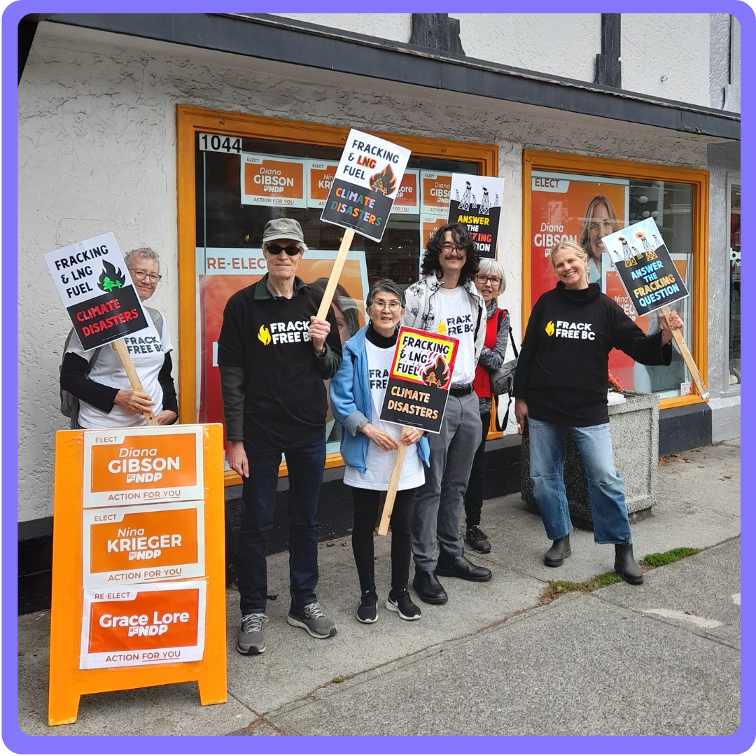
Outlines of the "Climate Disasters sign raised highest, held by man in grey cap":
<svg viewBox="0 0 756 756">
<path fill-rule="evenodd" d="M 410 150 L 351 129 L 321 221 L 380 241 L 409 159 Z"/>
</svg>

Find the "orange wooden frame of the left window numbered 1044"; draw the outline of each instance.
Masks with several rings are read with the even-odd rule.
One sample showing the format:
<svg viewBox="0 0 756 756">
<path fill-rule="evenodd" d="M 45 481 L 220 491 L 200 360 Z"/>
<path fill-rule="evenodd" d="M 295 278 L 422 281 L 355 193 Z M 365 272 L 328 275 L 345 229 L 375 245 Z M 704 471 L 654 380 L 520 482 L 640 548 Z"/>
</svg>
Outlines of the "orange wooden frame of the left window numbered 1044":
<svg viewBox="0 0 756 756">
<path fill-rule="evenodd" d="M 178 417 L 181 423 L 197 422 L 197 268 L 196 268 L 196 196 L 194 145 L 197 132 L 268 139 L 321 147 L 343 147 L 349 129 L 321 123 L 290 121 L 246 113 L 228 113 L 187 105 L 176 106 L 177 203 L 178 203 Z M 473 144 L 418 137 L 414 135 L 370 132 L 411 150 L 414 156 L 462 160 L 477 163 L 481 175 L 496 176 L 499 149 L 494 144 Z M 501 433 L 489 433 L 497 438 Z M 326 467 L 344 464 L 341 454 L 328 454 Z M 286 476 L 286 463 L 281 463 L 280 476 Z M 225 473 L 225 485 L 238 485 L 235 472 Z"/>
</svg>

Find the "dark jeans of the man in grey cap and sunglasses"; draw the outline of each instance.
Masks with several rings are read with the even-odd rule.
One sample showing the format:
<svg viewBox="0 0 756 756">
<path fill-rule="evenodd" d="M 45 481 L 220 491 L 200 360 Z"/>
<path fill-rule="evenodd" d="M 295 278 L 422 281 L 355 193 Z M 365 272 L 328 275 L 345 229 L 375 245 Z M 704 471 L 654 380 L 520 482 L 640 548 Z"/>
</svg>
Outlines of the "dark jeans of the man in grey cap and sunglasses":
<svg viewBox="0 0 756 756">
<path fill-rule="evenodd" d="M 236 572 L 243 615 L 265 612 L 268 565 L 265 547 L 273 528 L 280 454 L 250 457 L 243 480 L 244 513 L 237 537 Z M 286 453 L 289 468 L 289 592 L 291 602 L 305 606 L 317 600 L 318 494 L 326 461 L 325 437 Z"/>
</svg>

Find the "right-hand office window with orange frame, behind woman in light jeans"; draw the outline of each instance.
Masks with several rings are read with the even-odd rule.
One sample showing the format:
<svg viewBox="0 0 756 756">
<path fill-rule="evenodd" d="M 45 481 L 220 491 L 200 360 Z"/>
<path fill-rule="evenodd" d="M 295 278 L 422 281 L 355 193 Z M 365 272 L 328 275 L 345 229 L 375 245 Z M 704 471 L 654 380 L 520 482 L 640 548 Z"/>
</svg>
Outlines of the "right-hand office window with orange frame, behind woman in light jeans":
<svg viewBox="0 0 756 756">
<path fill-rule="evenodd" d="M 556 285 L 556 274 L 550 266 L 551 248 L 560 240 L 569 239 L 588 253 L 590 280 L 598 283 L 644 332 L 660 330 L 658 311 L 643 317 L 637 314 L 601 243 L 603 236 L 645 218 L 654 218 L 691 293 L 672 308 L 683 318 L 683 335 L 702 370 L 705 345 L 702 347 L 697 339 L 703 329 L 705 344 L 706 255 L 699 224 L 701 203 L 705 199 L 705 172 L 528 153 L 528 150 L 524 164 L 523 321 L 527 322 L 538 297 Z M 662 407 L 691 401 L 681 401 L 692 395 L 693 387 L 674 345 L 669 366 L 642 365 L 624 352 L 612 350 L 609 370 L 625 390 L 658 394 L 663 400 Z"/>
</svg>

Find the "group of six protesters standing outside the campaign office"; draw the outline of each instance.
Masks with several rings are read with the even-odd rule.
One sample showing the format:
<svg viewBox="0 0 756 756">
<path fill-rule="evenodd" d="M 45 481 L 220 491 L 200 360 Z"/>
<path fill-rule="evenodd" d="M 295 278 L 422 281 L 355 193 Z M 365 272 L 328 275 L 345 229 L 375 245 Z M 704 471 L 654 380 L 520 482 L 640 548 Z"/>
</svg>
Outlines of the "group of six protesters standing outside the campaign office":
<svg viewBox="0 0 756 756">
<path fill-rule="evenodd" d="M 268 272 L 228 300 L 217 360 L 228 463 L 243 482 L 235 579 L 242 615 L 237 650 L 245 655 L 265 651 L 265 550 L 282 454 L 289 478 L 287 621 L 315 638 L 336 635 L 336 623 L 315 593 L 329 394 L 330 411 L 341 426 L 343 482 L 352 489 L 354 502 L 358 620 L 372 624 L 379 616 L 373 534 L 381 492 L 389 488 L 400 445 L 407 450 L 390 520 L 392 570 L 386 609 L 407 621 L 420 619 L 420 607 L 409 590 L 413 559 L 412 588 L 422 603 L 448 601 L 438 578 L 491 580 L 491 570 L 471 562 L 464 544 L 478 553 L 491 551 L 480 528 L 483 457 L 492 411 L 490 376 L 505 361 L 510 333 L 509 314 L 498 306 L 506 286 L 503 267 L 494 259 L 479 258 L 463 225 L 447 224 L 435 232 L 423 256 L 422 277 L 406 290 L 389 279 L 373 283 L 365 302 L 367 325 L 345 342 L 333 307 L 324 319 L 314 314 L 321 304 L 321 288 L 296 275 L 307 252 L 299 222 L 268 222 L 262 250 Z M 594 538 L 614 544 L 615 570 L 625 581 L 640 584 L 643 572 L 633 556 L 622 479 L 612 457 L 608 356 L 616 348 L 643 364 L 670 364 L 671 329 L 683 324 L 672 313 L 668 321 L 662 318 L 662 330 L 646 336 L 597 283 L 590 282 L 589 260 L 586 249 L 572 241 L 562 241 L 551 251 L 558 281 L 534 305 L 528 321 L 514 381 L 515 414 L 521 429 L 528 429 L 534 496 L 553 542 L 544 563 L 558 567 L 572 553 L 572 522 L 562 478 L 569 435 L 586 469 Z M 144 301 L 160 280 L 156 253 L 137 249 L 126 262 Z M 144 424 L 145 411 L 152 411 L 159 423 L 175 422 L 178 406 L 168 331 L 156 311 L 147 311 L 146 317 L 160 349 L 133 355 L 142 392 L 131 389 L 112 350 L 93 356 L 82 350 L 76 336 L 71 339 L 60 385 L 79 399 L 73 427 Z M 438 433 L 380 420 L 402 324 L 459 339 Z M 296 337 L 275 337 L 284 333 Z"/>
</svg>

